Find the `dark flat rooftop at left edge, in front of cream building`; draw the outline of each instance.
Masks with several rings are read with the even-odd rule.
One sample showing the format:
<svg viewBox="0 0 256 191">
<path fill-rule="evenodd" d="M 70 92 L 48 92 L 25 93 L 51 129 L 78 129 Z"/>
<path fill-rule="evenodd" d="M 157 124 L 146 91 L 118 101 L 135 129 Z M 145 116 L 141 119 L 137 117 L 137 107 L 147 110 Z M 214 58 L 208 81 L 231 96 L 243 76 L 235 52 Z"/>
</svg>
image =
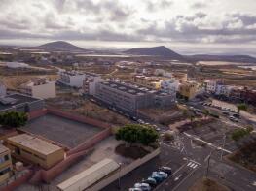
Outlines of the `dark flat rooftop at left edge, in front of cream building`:
<svg viewBox="0 0 256 191">
<path fill-rule="evenodd" d="M 5 99 L 7 101 L 12 100 L 12 103 L 4 104 L 4 103 L 0 102 L 0 111 L 10 109 L 19 104 L 32 103 L 35 101 L 39 101 L 39 99 L 37 99 L 37 98 L 33 98 L 33 97 L 26 96 L 23 94 L 8 95 L 8 96 L 4 97 L 3 101 Z"/>
</svg>

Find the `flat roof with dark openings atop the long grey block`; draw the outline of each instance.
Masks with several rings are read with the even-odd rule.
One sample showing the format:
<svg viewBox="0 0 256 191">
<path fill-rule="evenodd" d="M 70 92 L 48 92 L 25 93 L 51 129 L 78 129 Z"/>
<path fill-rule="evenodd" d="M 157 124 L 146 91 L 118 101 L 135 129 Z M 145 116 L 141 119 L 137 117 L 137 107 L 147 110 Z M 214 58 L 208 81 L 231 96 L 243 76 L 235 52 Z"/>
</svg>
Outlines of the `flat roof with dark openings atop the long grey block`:
<svg viewBox="0 0 256 191">
<path fill-rule="evenodd" d="M 131 83 L 117 82 L 117 81 L 103 81 L 101 84 L 107 85 L 113 89 L 117 89 L 123 92 L 127 92 L 132 95 L 144 95 L 146 93 L 154 93 L 152 89 L 133 85 Z"/>
</svg>

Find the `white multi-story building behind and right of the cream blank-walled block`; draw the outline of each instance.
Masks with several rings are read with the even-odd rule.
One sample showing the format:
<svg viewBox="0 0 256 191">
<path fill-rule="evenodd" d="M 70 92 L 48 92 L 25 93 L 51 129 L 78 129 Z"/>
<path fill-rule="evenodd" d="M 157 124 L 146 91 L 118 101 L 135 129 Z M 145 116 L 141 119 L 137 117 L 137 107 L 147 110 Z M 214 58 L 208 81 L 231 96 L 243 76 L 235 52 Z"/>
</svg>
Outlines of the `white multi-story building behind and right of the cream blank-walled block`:
<svg viewBox="0 0 256 191">
<path fill-rule="evenodd" d="M 85 78 L 86 75 L 78 71 L 62 71 L 59 72 L 58 82 L 67 86 L 81 88 Z"/>
</svg>

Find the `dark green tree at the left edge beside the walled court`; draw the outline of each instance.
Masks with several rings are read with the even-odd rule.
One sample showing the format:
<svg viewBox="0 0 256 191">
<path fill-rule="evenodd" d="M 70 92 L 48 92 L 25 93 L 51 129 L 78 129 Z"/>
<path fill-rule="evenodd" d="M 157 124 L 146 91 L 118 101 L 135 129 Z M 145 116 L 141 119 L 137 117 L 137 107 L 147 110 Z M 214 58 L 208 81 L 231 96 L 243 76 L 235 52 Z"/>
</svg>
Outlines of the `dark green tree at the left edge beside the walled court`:
<svg viewBox="0 0 256 191">
<path fill-rule="evenodd" d="M 24 126 L 28 120 L 27 114 L 18 111 L 0 113 L 0 125 L 7 129 Z"/>
</svg>

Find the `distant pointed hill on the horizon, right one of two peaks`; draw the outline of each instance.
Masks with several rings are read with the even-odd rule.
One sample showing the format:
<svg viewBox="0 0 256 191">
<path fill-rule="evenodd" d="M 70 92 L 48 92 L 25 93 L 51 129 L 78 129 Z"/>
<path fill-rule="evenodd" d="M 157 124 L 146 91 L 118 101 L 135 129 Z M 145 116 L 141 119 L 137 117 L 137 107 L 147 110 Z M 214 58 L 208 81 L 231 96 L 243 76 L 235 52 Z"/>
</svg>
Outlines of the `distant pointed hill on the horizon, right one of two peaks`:
<svg viewBox="0 0 256 191">
<path fill-rule="evenodd" d="M 171 59 L 181 60 L 183 56 L 176 53 L 175 51 L 166 48 L 165 46 L 158 46 L 153 48 L 131 48 L 125 51 L 125 53 L 135 55 L 151 55 L 151 56 L 163 56 Z"/>
</svg>

